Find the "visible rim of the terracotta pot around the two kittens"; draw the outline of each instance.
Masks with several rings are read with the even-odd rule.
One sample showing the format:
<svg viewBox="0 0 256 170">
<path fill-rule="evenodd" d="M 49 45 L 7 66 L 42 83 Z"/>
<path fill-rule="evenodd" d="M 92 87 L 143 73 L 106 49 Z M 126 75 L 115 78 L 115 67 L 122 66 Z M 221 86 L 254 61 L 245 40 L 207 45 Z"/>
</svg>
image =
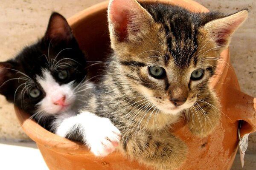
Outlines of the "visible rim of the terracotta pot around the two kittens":
<svg viewBox="0 0 256 170">
<path fill-rule="evenodd" d="M 151 2 L 151 3 L 156 2 L 156 0 L 140 0 L 140 1 Z M 161 3 L 172 3 L 172 0 L 158 0 L 158 1 Z M 191 4 L 192 8 L 197 8 L 198 11 L 201 11 L 201 12 L 208 11 L 207 8 L 205 8 L 204 6 L 192 0 L 186 0 L 180 3 L 181 3 L 181 6 L 182 6 L 182 3 Z M 108 7 L 108 1 L 104 1 L 102 3 L 96 4 L 94 6 L 91 6 L 90 8 L 84 9 L 83 11 L 73 15 L 68 19 L 68 22 L 70 26 L 73 27 L 79 24 L 79 21 L 82 18 L 92 15 L 97 11 L 105 10 L 107 7 Z M 226 63 L 227 64 L 229 63 L 228 49 L 224 50 L 221 53 L 221 62 L 218 63 L 218 72 L 221 74 L 217 74 L 211 80 L 211 87 L 214 88 L 215 91 L 219 91 L 219 89 L 221 88 L 221 83 L 224 81 L 226 77 L 227 70 L 228 70 L 228 68 L 225 66 Z M 19 122 L 23 130 L 33 141 L 39 144 L 43 144 L 44 146 L 50 149 L 54 149 L 58 152 L 70 153 L 70 152 L 76 151 L 76 155 L 81 154 L 83 156 L 86 155 L 86 156 L 94 157 L 94 155 L 88 151 L 87 147 L 84 146 L 84 144 L 81 144 L 79 142 L 73 142 L 69 139 L 62 138 L 60 136 L 55 135 L 54 133 L 51 133 L 45 130 L 43 127 L 38 125 L 34 120 L 29 119 L 30 115 L 28 113 L 21 111 L 17 107 L 15 107 L 15 113 L 17 115 L 17 118 L 19 119 Z"/>
</svg>

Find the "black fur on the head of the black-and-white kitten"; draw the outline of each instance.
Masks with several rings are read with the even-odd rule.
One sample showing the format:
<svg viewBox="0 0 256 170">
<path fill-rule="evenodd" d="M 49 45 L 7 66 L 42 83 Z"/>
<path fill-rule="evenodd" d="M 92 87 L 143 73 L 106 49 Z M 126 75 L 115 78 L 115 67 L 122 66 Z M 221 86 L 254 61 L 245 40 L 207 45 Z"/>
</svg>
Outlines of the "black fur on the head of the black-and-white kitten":
<svg viewBox="0 0 256 170">
<path fill-rule="evenodd" d="M 57 20 L 57 21 L 56 21 Z M 64 27 L 64 32 L 59 33 L 56 31 L 57 26 L 54 26 L 56 22 L 60 22 Z M 56 28 L 55 28 L 56 27 Z M 36 82 L 36 75 L 42 74 L 42 69 L 47 68 L 51 71 L 53 77 L 56 70 L 48 68 L 48 54 L 49 59 L 55 59 L 56 62 L 65 62 L 65 69 L 68 70 L 70 77 L 63 81 L 56 81 L 59 84 L 71 82 L 81 82 L 87 74 L 85 70 L 86 58 L 84 53 L 80 50 L 75 37 L 72 34 L 71 28 L 68 25 L 66 19 L 58 13 L 53 13 L 49 20 L 47 31 L 38 42 L 25 47 L 17 56 L 13 59 L 9 59 L 6 62 L 0 62 L 0 94 L 4 95 L 9 102 L 13 102 L 17 107 L 24 111 L 33 114 L 36 109 L 36 104 L 40 102 L 45 92 Z M 68 59 L 65 59 L 68 58 Z M 72 59 L 72 60 L 70 60 Z M 25 91 L 24 97 L 21 95 L 26 80 L 15 79 L 19 77 L 30 77 L 35 87 L 41 89 L 43 95 L 37 99 L 29 97 L 29 91 Z M 52 119 L 52 118 L 49 118 Z"/>
</svg>

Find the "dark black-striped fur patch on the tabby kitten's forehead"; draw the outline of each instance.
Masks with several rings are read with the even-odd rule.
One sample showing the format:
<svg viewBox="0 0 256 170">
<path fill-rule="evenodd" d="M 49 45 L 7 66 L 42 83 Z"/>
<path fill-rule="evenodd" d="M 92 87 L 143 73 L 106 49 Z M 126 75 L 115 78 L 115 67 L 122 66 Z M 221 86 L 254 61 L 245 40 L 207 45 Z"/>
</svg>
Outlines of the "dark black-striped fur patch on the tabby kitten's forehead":
<svg viewBox="0 0 256 170">
<path fill-rule="evenodd" d="M 192 57 L 197 51 L 197 28 L 193 18 L 180 8 L 170 8 L 162 4 L 143 6 L 152 15 L 157 23 L 163 25 L 166 32 L 166 43 L 170 57 L 174 59 L 177 67 L 183 68 L 190 64 Z M 168 61 L 165 61 L 168 63 Z"/>
</svg>

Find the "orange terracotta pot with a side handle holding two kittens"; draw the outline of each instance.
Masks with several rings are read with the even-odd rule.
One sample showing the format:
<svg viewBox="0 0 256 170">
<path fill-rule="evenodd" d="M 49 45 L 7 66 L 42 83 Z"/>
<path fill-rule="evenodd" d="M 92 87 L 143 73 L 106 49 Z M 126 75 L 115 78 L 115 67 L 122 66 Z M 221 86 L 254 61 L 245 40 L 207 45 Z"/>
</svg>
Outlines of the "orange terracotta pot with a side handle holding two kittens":
<svg viewBox="0 0 256 170">
<path fill-rule="evenodd" d="M 147 0 L 150 3 L 157 1 L 177 4 L 193 11 L 207 11 L 207 8 L 192 0 Z M 108 54 L 107 7 L 106 1 L 87 8 L 69 19 L 81 48 L 92 57 L 90 60 L 103 60 Z M 221 122 L 215 131 L 201 139 L 192 136 L 188 127 L 181 124 L 175 125 L 174 133 L 189 147 L 186 162 L 180 170 L 230 169 L 237 151 L 239 120 L 243 120 L 241 136 L 256 131 L 256 99 L 240 91 L 229 57 L 229 50 L 223 51 L 218 65 L 218 74 L 211 82 L 222 105 Z M 81 143 L 72 142 L 48 132 L 30 120 L 29 114 L 15 109 L 23 130 L 37 143 L 51 170 L 145 169 L 137 162 L 123 158 L 119 152 L 112 153 L 105 158 L 96 158 Z"/>
</svg>

